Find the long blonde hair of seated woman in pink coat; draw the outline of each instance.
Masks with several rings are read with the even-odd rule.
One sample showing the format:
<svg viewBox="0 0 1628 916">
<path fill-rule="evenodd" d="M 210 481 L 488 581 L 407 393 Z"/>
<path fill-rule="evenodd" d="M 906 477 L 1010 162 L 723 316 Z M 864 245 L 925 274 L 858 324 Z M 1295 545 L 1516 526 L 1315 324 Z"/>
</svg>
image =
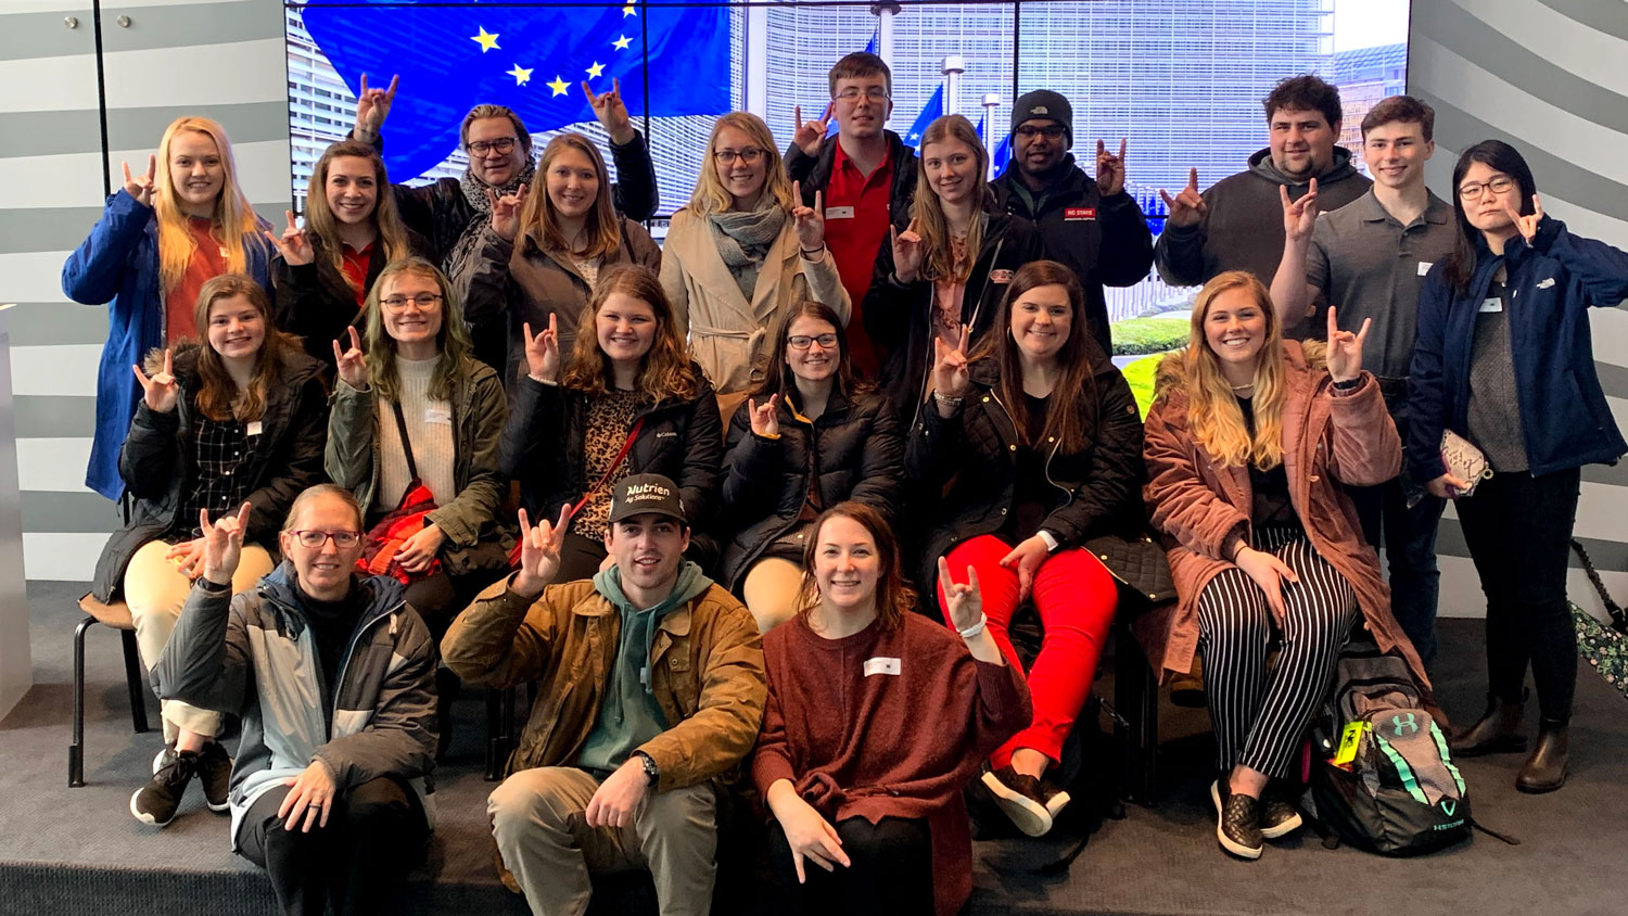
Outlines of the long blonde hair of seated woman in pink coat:
<svg viewBox="0 0 1628 916">
<path fill-rule="evenodd" d="M 1255 355 L 1255 394 L 1250 399 L 1255 415 L 1255 436 L 1244 425 L 1244 412 L 1232 395 L 1232 386 L 1221 373 L 1221 360 L 1210 350 L 1205 337 L 1205 319 L 1210 306 L 1221 293 L 1244 290 L 1267 317 L 1267 340 Z M 1187 371 L 1187 425 L 1198 441 L 1224 467 L 1254 465 L 1270 470 L 1283 464 L 1283 399 L 1286 377 L 1283 371 L 1283 330 L 1278 312 L 1271 308 L 1271 294 L 1247 270 L 1228 270 L 1216 275 L 1198 291 L 1193 301 L 1192 335 L 1184 355 Z"/>
</svg>

